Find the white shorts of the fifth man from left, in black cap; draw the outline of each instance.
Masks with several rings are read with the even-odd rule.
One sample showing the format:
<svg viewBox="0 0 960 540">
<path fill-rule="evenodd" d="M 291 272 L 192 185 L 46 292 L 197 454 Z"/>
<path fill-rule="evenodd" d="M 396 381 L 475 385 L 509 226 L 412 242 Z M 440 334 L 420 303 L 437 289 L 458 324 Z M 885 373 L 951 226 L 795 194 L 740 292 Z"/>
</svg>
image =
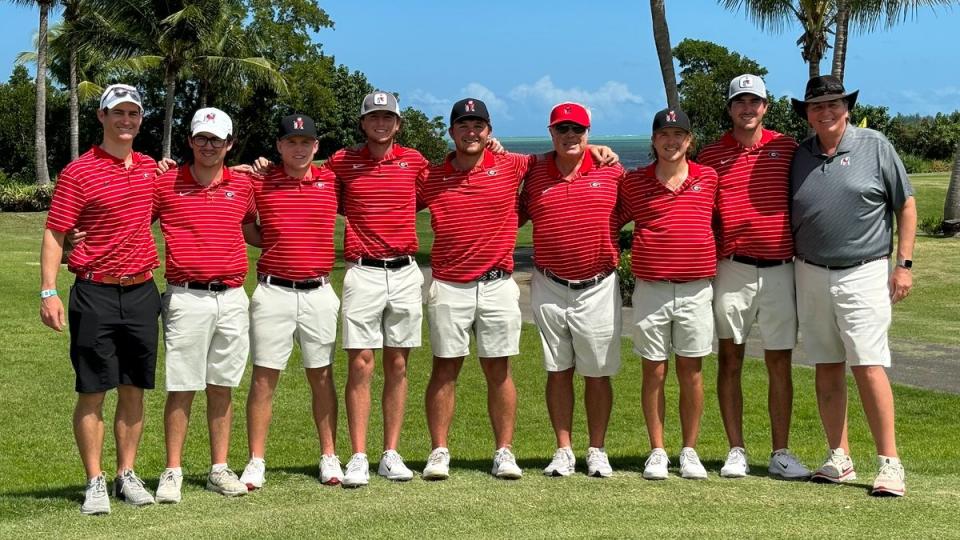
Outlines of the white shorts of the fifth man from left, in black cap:
<svg viewBox="0 0 960 540">
<path fill-rule="evenodd" d="M 469 283 L 434 279 L 427 313 L 434 356 L 467 356 L 471 331 L 480 358 L 520 353 L 520 287 L 511 277 Z"/>
</svg>

